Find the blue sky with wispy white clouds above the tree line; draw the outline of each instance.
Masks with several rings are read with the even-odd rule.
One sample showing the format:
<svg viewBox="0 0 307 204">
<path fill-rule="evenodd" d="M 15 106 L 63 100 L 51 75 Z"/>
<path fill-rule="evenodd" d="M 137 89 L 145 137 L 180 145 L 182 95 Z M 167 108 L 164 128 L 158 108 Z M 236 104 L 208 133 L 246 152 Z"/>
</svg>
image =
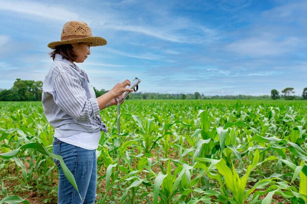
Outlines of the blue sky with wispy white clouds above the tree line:
<svg viewBox="0 0 307 204">
<path fill-rule="evenodd" d="M 47 45 L 72 20 L 107 40 L 78 64 L 98 90 L 134 77 L 142 92 L 307 87 L 306 0 L 0 0 L 0 88 L 43 81 Z"/>
</svg>

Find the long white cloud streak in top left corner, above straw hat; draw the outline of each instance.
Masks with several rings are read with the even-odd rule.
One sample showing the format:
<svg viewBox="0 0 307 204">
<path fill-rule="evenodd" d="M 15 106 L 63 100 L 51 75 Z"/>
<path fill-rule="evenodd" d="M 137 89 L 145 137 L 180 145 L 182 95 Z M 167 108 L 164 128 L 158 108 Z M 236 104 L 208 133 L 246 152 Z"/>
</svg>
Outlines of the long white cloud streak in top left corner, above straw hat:
<svg viewBox="0 0 307 204">
<path fill-rule="evenodd" d="M 42 18 L 53 20 L 74 20 L 78 19 L 78 14 L 69 11 L 69 7 L 62 8 L 55 3 L 44 4 L 35 1 L 20 1 L 20 0 L 0 0 L 0 10 L 24 13 Z"/>
</svg>

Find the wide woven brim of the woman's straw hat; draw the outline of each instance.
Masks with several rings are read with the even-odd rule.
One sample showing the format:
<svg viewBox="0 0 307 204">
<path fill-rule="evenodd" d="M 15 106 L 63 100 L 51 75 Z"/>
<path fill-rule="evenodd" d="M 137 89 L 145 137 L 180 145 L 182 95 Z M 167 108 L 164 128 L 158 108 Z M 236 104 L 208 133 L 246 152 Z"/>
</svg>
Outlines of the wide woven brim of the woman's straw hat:
<svg viewBox="0 0 307 204">
<path fill-rule="evenodd" d="M 50 47 L 51 49 L 55 49 L 58 45 L 68 45 L 73 43 L 89 43 L 93 47 L 106 45 L 106 40 L 104 40 L 102 37 L 75 38 L 65 41 L 51 42 L 50 44 L 48 44 L 48 47 Z"/>
</svg>

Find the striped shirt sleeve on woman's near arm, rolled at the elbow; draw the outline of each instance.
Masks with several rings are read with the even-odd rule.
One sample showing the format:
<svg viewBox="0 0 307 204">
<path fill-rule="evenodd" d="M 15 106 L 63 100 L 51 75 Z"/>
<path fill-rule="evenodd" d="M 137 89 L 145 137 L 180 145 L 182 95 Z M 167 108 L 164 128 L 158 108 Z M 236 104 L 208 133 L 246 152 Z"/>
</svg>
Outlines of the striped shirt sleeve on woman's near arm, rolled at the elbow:
<svg viewBox="0 0 307 204">
<path fill-rule="evenodd" d="M 87 98 L 81 80 L 74 72 L 60 70 L 54 78 L 54 102 L 66 113 L 80 121 L 91 122 L 99 114 L 96 98 Z"/>
</svg>

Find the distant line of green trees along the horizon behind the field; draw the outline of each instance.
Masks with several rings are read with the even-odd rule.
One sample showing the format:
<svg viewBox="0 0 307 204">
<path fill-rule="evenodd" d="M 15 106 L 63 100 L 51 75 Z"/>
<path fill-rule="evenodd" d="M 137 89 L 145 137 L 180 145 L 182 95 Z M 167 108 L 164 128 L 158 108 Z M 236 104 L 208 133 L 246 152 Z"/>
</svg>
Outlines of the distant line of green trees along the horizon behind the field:
<svg viewBox="0 0 307 204">
<path fill-rule="evenodd" d="M 11 89 L 0 89 L 0 101 L 40 101 L 42 100 L 42 81 L 33 81 L 33 80 L 21 80 L 16 79 L 14 85 Z M 108 90 L 97 90 L 94 87 L 94 91 L 96 93 L 96 97 L 101 96 L 103 93 Z M 285 88 L 281 91 L 284 94 L 280 94 L 277 90 L 271 91 L 270 95 L 262 95 L 262 96 L 251 96 L 251 95 L 214 95 L 214 96 L 205 96 L 204 94 L 200 94 L 199 92 L 195 93 L 142 93 L 133 92 L 128 95 L 127 99 L 279 99 L 284 98 L 286 100 L 295 99 L 294 89 L 293 88 Z M 307 99 L 307 88 L 304 89 L 302 97 Z"/>
</svg>

